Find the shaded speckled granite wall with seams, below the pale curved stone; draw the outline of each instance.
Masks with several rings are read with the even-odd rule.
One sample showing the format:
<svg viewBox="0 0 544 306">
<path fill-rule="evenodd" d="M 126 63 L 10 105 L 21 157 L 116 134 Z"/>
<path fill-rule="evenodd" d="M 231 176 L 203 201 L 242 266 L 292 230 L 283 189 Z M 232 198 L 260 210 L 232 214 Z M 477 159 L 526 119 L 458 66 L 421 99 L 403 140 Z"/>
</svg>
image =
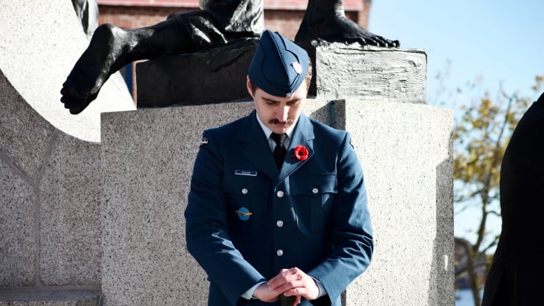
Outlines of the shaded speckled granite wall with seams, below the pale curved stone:
<svg viewBox="0 0 544 306">
<path fill-rule="evenodd" d="M 100 284 L 99 144 L 54 128 L 1 71 L 0 92 L 0 285 Z"/>
</svg>

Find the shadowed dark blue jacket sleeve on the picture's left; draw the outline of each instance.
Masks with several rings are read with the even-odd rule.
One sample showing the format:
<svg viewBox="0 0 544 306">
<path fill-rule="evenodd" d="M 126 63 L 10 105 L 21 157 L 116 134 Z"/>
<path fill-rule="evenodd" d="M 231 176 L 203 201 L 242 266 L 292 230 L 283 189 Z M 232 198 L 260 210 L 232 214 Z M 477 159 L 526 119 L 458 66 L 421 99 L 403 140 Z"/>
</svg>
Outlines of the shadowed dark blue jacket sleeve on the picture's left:
<svg viewBox="0 0 544 306">
<path fill-rule="evenodd" d="M 264 277 L 245 261 L 227 233 L 227 199 L 222 192 L 224 158 L 213 132 L 204 132 L 193 169 L 185 211 L 187 249 L 236 305 L 241 295 Z"/>
</svg>

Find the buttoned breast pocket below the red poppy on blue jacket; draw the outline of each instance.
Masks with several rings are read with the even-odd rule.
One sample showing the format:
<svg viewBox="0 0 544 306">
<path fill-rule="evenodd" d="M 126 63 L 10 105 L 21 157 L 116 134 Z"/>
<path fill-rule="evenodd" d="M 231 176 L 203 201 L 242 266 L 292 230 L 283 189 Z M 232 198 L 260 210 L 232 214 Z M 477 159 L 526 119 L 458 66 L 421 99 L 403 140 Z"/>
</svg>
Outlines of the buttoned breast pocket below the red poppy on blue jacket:
<svg viewBox="0 0 544 306">
<path fill-rule="evenodd" d="M 302 233 L 328 229 L 337 181 L 335 174 L 315 174 L 290 181 L 296 224 Z"/>
</svg>

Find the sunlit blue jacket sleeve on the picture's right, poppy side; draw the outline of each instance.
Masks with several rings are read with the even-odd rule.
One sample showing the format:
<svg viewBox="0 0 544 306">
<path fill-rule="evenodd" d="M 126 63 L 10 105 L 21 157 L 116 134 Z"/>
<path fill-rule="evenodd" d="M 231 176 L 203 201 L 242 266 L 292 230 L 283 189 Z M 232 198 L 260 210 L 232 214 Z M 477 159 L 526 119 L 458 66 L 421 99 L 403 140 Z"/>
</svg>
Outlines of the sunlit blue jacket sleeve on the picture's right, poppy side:
<svg viewBox="0 0 544 306">
<path fill-rule="evenodd" d="M 350 144 L 349 133 L 340 145 L 336 167 L 338 194 L 333 209 L 333 248 L 308 273 L 322 282 L 331 300 L 338 298 L 368 268 L 374 250 L 363 170 Z"/>
</svg>

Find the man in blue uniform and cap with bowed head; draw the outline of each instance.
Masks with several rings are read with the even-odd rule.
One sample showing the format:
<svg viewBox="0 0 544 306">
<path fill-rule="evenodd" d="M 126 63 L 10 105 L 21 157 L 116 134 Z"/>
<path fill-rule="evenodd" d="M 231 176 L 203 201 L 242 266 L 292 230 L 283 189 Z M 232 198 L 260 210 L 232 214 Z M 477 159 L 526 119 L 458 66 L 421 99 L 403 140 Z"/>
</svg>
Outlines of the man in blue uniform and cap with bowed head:
<svg viewBox="0 0 544 306">
<path fill-rule="evenodd" d="M 255 111 L 204 131 L 185 217 L 188 250 L 209 276 L 208 305 L 340 306 L 370 264 L 350 135 L 302 112 L 309 63 L 304 49 L 265 31 L 248 69 Z"/>
</svg>

